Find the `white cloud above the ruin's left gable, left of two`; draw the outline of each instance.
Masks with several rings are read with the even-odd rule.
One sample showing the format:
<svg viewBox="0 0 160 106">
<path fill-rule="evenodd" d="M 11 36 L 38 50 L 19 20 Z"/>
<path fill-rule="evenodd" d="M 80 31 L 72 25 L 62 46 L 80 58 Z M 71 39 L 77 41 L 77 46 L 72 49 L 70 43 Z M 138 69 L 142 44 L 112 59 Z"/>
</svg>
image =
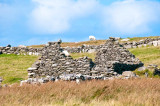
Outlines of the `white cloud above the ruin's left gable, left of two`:
<svg viewBox="0 0 160 106">
<path fill-rule="evenodd" d="M 88 16 L 98 4 L 96 0 L 32 0 L 36 7 L 31 13 L 30 27 L 42 34 L 67 31 L 71 21 Z"/>
</svg>

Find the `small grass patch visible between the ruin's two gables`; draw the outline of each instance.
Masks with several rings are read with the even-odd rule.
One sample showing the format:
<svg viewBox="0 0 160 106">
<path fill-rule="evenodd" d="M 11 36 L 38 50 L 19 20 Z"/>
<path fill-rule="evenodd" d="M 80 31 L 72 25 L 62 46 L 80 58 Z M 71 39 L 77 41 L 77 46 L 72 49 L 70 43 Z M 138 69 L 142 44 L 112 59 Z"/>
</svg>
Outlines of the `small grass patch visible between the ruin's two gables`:
<svg viewBox="0 0 160 106">
<path fill-rule="evenodd" d="M 71 57 L 73 59 L 78 59 L 80 57 L 87 56 L 87 57 L 91 58 L 93 61 L 95 60 L 95 55 L 96 55 L 96 53 L 71 53 Z"/>
</svg>

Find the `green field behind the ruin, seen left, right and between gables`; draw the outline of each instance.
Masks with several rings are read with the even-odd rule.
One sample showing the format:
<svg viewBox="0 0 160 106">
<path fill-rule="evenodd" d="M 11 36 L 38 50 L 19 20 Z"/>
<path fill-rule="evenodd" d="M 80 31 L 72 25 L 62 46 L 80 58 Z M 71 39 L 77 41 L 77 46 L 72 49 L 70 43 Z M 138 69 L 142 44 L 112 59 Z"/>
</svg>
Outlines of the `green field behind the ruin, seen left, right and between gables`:
<svg viewBox="0 0 160 106">
<path fill-rule="evenodd" d="M 129 49 L 137 58 L 139 58 L 145 66 L 149 64 L 157 64 L 160 66 L 160 47 L 142 47 Z M 74 59 L 88 56 L 93 61 L 95 53 L 72 53 Z M 27 78 L 27 68 L 36 60 L 37 56 L 24 55 L 0 55 L 0 76 L 5 80 L 3 83 L 12 84 L 19 80 Z"/>
</svg>

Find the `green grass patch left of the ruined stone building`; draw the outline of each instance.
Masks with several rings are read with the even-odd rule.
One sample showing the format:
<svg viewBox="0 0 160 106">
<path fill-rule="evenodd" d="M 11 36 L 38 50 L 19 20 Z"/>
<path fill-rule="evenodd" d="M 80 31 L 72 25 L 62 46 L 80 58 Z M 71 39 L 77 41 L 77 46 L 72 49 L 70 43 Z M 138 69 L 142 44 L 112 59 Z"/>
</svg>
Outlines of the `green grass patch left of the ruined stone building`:
<svg viewBox="0 0 160 106">
<path fill-rule="evenodd" d="M 12 84 L 27 78 L 27 68 L 36 60 L 37 56 L 0 55 L 0 77 L 5 84 Z"/>
</svg>

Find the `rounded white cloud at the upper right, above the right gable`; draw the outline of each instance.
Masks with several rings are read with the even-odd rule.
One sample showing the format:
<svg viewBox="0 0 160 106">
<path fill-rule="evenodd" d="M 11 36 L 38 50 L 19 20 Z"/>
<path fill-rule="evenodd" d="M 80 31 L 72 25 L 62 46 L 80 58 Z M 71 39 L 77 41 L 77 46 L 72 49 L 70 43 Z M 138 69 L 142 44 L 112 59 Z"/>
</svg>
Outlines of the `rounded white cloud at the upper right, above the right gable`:
<svg viewBox="0 0 160 106">
<path fill-rule="evenodd" d="M 150 25 L 160 22 L 160 3 L 148 0 L 114 2 L 104 8 L 103 16 L 107 32 L 147 33 L 152 30 Z"/>
</svg>

